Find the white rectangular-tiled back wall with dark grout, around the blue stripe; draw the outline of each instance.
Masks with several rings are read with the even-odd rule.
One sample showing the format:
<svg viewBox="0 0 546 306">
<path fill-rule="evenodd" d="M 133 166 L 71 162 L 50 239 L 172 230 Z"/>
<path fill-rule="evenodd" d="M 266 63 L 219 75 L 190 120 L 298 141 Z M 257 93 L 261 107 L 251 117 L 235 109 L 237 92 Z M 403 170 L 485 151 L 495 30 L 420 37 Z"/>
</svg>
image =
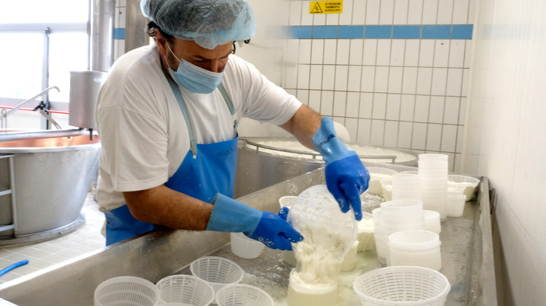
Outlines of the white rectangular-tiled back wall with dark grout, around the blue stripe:
<svg viewBox="0 0 546 306">
<path fill-rule="evenodd" d="M 251 4 L 258 29 L 472 24 L 475 6 L 474 0 L 345 0 L 342 14 L 311 15 L 309 2 Z M 274 40 L 268 34 L 258 30 L 251 45 L 237 54 L 303 103 L 344 124 L 352 141 L 441 152 L 449 155 L 450 170 L 459 170 L 472 41 Z M 256 126 L 252 129 L 255 133 Z"/>
</svg>

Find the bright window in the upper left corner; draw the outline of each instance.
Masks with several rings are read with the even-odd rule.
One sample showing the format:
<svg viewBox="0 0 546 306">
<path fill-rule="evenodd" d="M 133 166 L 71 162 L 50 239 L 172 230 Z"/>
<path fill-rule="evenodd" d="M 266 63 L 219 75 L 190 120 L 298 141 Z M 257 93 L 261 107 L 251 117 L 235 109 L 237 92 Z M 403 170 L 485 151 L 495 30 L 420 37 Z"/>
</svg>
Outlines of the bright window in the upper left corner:
<svg viewBox="0 0 546 306">
<path fill-rule="evenodd" d="M 49 100 L 69 102 L 69 71 L 88 68 L 90 0 L 0 5 L 0 105 L 17 105 L 53 85 L 61 91 L 50 91 Z"/>
</svg>

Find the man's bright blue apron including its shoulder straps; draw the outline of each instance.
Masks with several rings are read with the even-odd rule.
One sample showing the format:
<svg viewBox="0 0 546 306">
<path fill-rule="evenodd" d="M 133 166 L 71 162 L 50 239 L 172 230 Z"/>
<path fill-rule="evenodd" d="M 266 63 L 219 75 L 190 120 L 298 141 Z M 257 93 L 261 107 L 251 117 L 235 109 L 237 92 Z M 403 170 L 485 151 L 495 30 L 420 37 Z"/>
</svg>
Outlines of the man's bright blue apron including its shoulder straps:
<svg viewBox="0 0 546 306">
<path fill-rule="evenodd" d="M 165 186 L 207 203 L 212 203 L 218 193 L 232 197 L 235 188 L 238 137 L 235 136 L 232 140 L 219 143 L 198 145 L 180 89 L 172 78 L 166 76 L 182 110 L 184 119 L 186 119 L 186 126 L 188 126 L 190 134 L 190 150 L 176 173 L 169 177 Z M 233 129 L 237 135 L 237 119 L 235 119 L 233 103 L 222 85 L 218 86 L 218 90 L 220 90 L 232 117 L 234 117 Z M 160 227 L 135 219 L 127 205 L 105 212 L 105 216 L 106 245 L 112 245 Z"/>
</svg>

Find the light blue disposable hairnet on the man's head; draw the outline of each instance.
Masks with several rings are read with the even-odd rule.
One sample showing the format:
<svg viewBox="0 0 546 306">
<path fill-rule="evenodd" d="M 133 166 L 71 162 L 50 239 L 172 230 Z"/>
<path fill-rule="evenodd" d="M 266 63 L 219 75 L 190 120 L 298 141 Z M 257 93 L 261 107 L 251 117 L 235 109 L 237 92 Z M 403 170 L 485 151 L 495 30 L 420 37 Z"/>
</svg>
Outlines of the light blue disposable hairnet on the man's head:
<svg viewBox="0 0 546 306">
<path fill-rule="evenodd" d="M 165 33 L 207 49 L 255 34 L 254 14 L 246 0 L 141 0 L 140 6 Z"/>
</svg>

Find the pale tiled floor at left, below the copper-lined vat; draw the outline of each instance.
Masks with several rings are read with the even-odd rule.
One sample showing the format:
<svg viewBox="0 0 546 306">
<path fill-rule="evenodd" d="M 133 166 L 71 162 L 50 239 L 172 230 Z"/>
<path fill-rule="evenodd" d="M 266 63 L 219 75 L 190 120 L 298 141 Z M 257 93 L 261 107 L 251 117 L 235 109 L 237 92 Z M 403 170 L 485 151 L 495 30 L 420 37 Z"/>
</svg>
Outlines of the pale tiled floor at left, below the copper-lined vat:
<svg viewBox="0 0 546 306">
<path fill-rule="evenodd" d="M 106 239 L 100 233 L 104 214 L 99 212 L 98 207 L 99 205 L 93 201 L 92 194 L 89 194 L 82 208 L 85 224 L 76 231 L 60 238 L 31 245 L 0 247 L 0 269 L 25 259 L 29 261 L 27 265 L 22 265 L 0 276 L 0 285 L 31 272 L 102 249 L 106 243 Z"/>
</svg>

